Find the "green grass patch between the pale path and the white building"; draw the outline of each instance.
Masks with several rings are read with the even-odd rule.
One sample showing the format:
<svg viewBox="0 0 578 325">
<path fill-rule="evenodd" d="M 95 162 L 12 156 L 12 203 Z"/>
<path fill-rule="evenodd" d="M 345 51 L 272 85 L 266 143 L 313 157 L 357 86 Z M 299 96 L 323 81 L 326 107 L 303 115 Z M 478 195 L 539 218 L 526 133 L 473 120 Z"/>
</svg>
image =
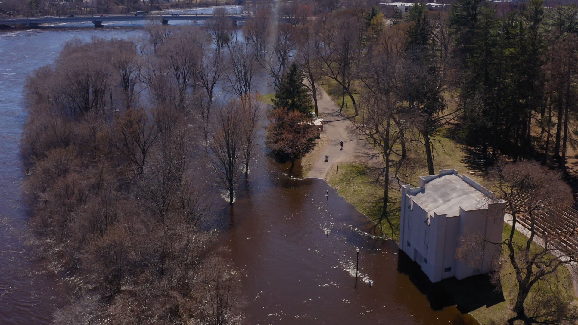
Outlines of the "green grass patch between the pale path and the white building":
<svg viewBox="0 0 578 325">
<path fill-rule="evenodd" d="M 375 175 L 371 175 L 363 165 L 340 164 L 339 172 L 337 171 L 335 166 L 329 169 L 327 173 L 329 185 L 335 187 L 339 195 L 355 205 L 361 213 L 375 221 L 377 228 L 383 229 L 381 234 L 384 237 L 398 238 L 401 192 L 390 189 L 391 204 L 388 218 L 380 220 L 383 210 L 383 183 L 376 182 Z"/>
</svg>

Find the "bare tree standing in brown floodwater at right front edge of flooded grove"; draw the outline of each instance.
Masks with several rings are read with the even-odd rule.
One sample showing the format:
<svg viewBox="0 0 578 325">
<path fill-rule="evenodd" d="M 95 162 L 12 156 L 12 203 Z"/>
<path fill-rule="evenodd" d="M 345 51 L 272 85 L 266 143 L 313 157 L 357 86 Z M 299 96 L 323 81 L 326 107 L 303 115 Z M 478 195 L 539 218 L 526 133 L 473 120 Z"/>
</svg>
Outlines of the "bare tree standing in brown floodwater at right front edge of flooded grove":
<svg viewBox="0 0 578 325">
<path fill-rule="evenodd" d="M 229 193 L 229 203 L 235 201 L 234 191 L 241 174 L 243 129 L 240 104 L 233 100 L 217 108 L 213 139 L 209 143 L 209 162 L 218 182 Z"/>
</svg>

